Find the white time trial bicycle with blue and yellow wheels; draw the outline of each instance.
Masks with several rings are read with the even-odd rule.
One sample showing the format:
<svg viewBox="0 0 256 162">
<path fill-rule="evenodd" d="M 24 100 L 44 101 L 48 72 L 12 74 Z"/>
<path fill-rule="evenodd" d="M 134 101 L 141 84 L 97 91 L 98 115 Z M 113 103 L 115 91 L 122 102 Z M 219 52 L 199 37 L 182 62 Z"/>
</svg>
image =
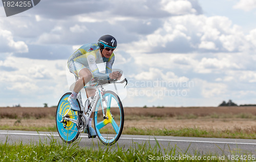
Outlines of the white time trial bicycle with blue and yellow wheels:
<svg viewBox="0 0 256 162">
<path fill-rule="evenodd" d="M 76 77 L 77 79 L 78 77 Z M 117 79 L 102 80 L 95 77 L 92 83 L 96 87 L 96 93 L 88 110 L 83 106 L 81 91 L 77 95 L 80 111 L 71 109 L 68 102 L 71 92 L 65 93 L 60 98 L 56 110 L 56 127 L 62 141 L 67 143 L 74 142 L 84 129 L 87 129 L 88 138 L 93 138 L 90 136 L 88 123 L 92 112 L 94 112 L 94 128 L 100 142 L 105 145 L 116 143 L 123 129 L 123 106 L 119 96 L 113 91 L 106 91 L 103 86 L 106 84 L 122 84 L 124 82 L 126 82 L 126 86 L 126 78 L 121 82 L 117 82 Z"/>
</svg>

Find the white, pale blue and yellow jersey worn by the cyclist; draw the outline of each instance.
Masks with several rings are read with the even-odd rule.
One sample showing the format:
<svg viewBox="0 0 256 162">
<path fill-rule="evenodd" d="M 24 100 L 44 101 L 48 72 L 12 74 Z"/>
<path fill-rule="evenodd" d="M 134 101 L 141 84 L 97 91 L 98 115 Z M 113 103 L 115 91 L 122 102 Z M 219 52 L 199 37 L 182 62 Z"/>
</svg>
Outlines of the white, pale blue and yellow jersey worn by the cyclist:
<svg viewBox="0 0 256 162">
<path fill-rule="evenodd" d="M 85 44 L 77 49 L 68 60 L 68 67 L 72 73 L 78 76 L 82 68 L 91 70 L 93 77 L 109 79 L 112 72 L 112 65 L 115 60 L 114 52 L 110 58 L 101 56 L 97 43 Z M 100 73 L 97 64 L 106 62 L 106 72 Z"/>
</svg>

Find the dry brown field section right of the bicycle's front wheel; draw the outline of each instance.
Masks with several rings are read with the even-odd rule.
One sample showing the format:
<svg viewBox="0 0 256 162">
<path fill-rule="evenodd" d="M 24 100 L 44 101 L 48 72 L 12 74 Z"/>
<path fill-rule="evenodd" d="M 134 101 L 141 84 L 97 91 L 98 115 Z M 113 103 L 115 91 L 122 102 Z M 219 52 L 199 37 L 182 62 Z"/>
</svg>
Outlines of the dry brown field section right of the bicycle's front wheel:
<svg viewBox="0 0 256 162">
<path fill-rule="evenodd" d="M 256 130 L 256 107 L 127 108 L 125 127 Z"/>
</svg>

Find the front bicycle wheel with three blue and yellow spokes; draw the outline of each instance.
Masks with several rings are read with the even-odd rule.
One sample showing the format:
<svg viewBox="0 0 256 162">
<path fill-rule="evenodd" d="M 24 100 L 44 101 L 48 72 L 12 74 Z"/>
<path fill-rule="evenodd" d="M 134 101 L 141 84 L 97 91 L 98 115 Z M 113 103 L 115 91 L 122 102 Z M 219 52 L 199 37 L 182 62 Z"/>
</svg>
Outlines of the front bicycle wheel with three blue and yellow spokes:
<svg viewBox="0 0 256 162">
<path fill-rule="evenodd" d="M 100 142 L 113 145 L 120 138 L 123 130 L 123 106 L 118 95 L 112 91 L 105 91 L 102 101 L 103 106 L 100 98 L 96 101 L 94 127 Z M 105 113 L 105 119 L 103 113 Z"/>
</svg>

